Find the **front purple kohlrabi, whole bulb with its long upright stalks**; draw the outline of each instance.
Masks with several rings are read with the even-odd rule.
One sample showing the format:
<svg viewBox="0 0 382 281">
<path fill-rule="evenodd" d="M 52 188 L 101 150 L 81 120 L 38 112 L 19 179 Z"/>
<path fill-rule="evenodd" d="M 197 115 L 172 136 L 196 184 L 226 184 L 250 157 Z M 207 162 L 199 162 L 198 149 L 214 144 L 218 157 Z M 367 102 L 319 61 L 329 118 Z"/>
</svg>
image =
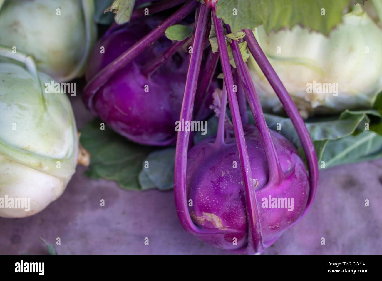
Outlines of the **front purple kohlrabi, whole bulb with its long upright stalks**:
<svg viewBox="0 0 382 281">
<path fill-rule="evenodd" d="M 211 143 L 209 139 L 206 139 L 192 148 L 189 155 L 191 162 L 189 163 L 187 163 L 187 154 L 190 133 L 178 132 L 174 179 L 176 209 L 182 226 L 186 231 L 199 237 L 199 239 L 223 249 L 235 250 L 241 253 L 258 253 L 262 252 L 265 247 L 268 247 L 277 240 L 283 230 L 291 227 L 296 221 L 301 219 L 303 214 L 309 209 L 317 189 L 318 167 L 316 154 L 308 130 L 301 116 L 299 116 L 296 106 L 293 104 L 280 79 L 278 79 L 275 71 L 257 44 L 256 39 L 254 39 L 252 31 L 245 30 L 245 40 L 248 43 L 249 50 L 251 50 L 264 75 L 280 98 L 299 135 L 308 160 L 308 184 L 306 167 L 302 159 L 298 156 L 296 149 L 283 136 L 269 130 L 248 67 L 243 62 L 239 43 L 235 40 L 231 41 L 230 46 L 237 67 L 237 77 L 235 81 L 238 81 L 242 89 L 238 89 L 237 85 L 234 84 L 235 81 L 231 72 L 230 58 L 227 49 L 227 38 L 225 36 L 223 21 L 217 17 L 216 1 L 205 0 L 205 2 L 206 5 L 199 5 L 197 13 L 196 29 L 193 36 L 193 53 L 189 58 L 188 75 L 180 120 L 190 122 L 192 118 L 192 110 L 197 90 L 196 83 L 204 48 L 204 37 L 206 36 L 206 27 L 211 10 L 224 75 L 219 127 L 215 143 Z M 227 25 L 226 28 L 227 32 L 230 33 L 230 27 Z M 211 56 L 212 54 L 210 53 L 210 58 Z M 211 73 L 208 74 L 210 75 Z M 204 84 L 207 85 L 208 80 L 207 78 L 205 79 L 201 88 L 206 88 Z M 236 93 L 235 88 L 240 92 Z M 201 93 L 198 93 L 198 97 L 199 94 Z M 224 137 L 227 96 L 236 146 L 231 136 L 227 134 L 227 141 L 225 141 Z M 249 144 L 251 144 L 248 148 L 243 128 L 243 122 L 246 123 L 247 121 L 245 116 L 245 96 L 248 99 L 258 129 L 253 130 L 250 126 L 246 126 L 245 136 L 248 137 Z M 240 99 L 240 101 L 238 101 L 238 99 Z M 259 142 L 261 142 L 263 149 L 259 149 Z M 275 146 L 274 142 L 277 142 L 277 146 Z M 235 149 L 235 152 L 230 149 Z M 215 151 L 216 154 L 213 154 L 214 152 L 209 154 L 210 150 Z M 251 159 L 249 158 L 248 150 L 251 152 Z M 230 155 L 237 155 L 236 153 L 238 153 L 241 167 L 240 177 L 242 181 L 239 181 L 237 185 L 235 184 L 235 180 L 238 178 L 234 178 L 234 181 L 232 181 L 233 178 L 231 178 L 234 177 L 233 174 L 235 172 L 224 179 L 224 171 L 221 176 L 213 174 L 212 172 L 214 169 L 217 169 L 220 173 L 224 165 L 220 165 L 221 162 L 214 162 L 216 159 L 211 156 L 217 156 L 218 154 L 220 156 L 220 153 L 224 155 L 225 152 L 230 153 Z M 293 157 L 294 167 L 291 167 L 291 162 L 288 160 L 288 157 Z M 264 161 L 264 159 L 266 159 L 266 161 Z M 268 169 L 256 167 L 259 161 L 262 161 L 264 164 L 267 163 Z M 203 167 L 207 167 L 207 170 L 202 171 L 201 168 L 197 166 L 199 163 Z M 254 163 L 256 164 L 254 165 Z M 189 171 L 190 174 L 188 174 L 188 172 L 186 173 L 187 164 L 189 164 L 189 170 L 191 170 Z M 228 170 L 228 173 L 229 171 L 230 170 Z M 255 179 L 253 179 L 253 175 L 256 175 Z M 186 179 L 189 179 L 188 183 L 186 183 Z M 259 183 L 257 179 L 261 179 L 263 183 L 259 187 L 257 187 Z M 222 189 L 219 189 L 219 184 L 222 184 L 224 181 L 226 181 L 226 185 L 223 189 L 226 187 L 227 189 L 222 191 Z M 214 188 L 211 188 L 211 184 L 214 185 Z M 196 200 L 194 205 L 191 206 L 191 209 L 188 208 L 187 192 L 189 192 L 189 196 L 192 200 Z M 269 197 L 271 195 L 280 197 L 288 194 L 292 199 L 296 197 L 299 203 L 298 206 L 296 206 L 295 212 L 291 213 L 291 215 L 283 213 L 284 211 L 265 212 L 259 207 L 262 204 L 259 203 L 260 200 L 256 199 L 256 193 L 258 193 L 259 196 L 267 194 Z M 218 199 L 218 205 L 212 203 L 211 205 L 213 206 L 210 206 L 209 203 L 205 203 L 204 198 L 207 199 L 208 197 L 214 198 L 212 201 L 215 202 L 218 202 L 216 201 L 216 199 Z M 207 201 L 209 201 L 209 199 L 207 199 Z M 262 208 L 266 207 L 262 206 Z M 191 220 L 190 211 L 196 224 Z M 293 211 L 293 208 L 288 211 Z M 234 218 L 234 221 L 232 221 L 231 218 Z M 211 224 L 213 228 L 211 228 Z M 274 229 L 275 226 L 277 226 L 277 229 Z M 237 248 L 235 248 L 235 246 L 232 247 L 228 242 L 232 238 L 230 236 L 231 234 L 241 237 L 240 245 L 236 244 L 238 245 Z M 233 239 L 235 238 L 236 237 L 233 237 Z"/>
</svg>

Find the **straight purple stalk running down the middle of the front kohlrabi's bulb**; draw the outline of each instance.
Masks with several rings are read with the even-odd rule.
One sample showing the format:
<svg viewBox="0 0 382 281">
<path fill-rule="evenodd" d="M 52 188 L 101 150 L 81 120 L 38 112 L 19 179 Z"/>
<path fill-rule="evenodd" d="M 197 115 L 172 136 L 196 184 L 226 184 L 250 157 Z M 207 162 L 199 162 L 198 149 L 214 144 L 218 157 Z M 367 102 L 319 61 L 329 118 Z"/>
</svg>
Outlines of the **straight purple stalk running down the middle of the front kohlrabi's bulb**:
<svg viewBox="0 0 382 281">
<path fill-rule="evenodd" d="M 224 81 L 228 91 L 228 102 L 230 104 L 232 123 L 239 152 L 241 172 L 243 174 L 244 180 L 244 194 L 248 224 L 248 250 L 259 252 L 259 250 L 264 249 L 264 246 L 262 244 L 261 224 L 259 218 L 259 210 L 257 208 L 256 193 L 252 178 L 251 165 L 248 157 L 247 145 L 244 138 L 243 124 L 241 123 L 240 118 L 238 101 L 236 94 L 233 91 L 234 82 L 231 72 L 230 59 L 228 57 L 225 31 L 223 28 L 222 20 L 217 18 L 215 5 L 212 5 L 212 18 L 214 19 L 220 62 L 222 63 Z"/>
</svg>

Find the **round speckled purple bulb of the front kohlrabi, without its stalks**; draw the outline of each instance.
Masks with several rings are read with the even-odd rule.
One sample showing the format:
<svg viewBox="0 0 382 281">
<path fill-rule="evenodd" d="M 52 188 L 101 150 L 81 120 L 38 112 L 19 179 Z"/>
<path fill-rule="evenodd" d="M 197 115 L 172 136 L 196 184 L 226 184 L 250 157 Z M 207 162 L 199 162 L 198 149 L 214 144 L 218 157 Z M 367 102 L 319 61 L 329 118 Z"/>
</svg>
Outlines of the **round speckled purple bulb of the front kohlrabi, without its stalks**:
<svg viewBox="0 0 382 281">
<path fill-rule="evenodd" d="M 283 138 L 277 133 L 271 132 L 271 134 L 272 138 L 277 140 Z M 296 149 L 288 141 L 283 141 L 277 146 L 280 165 L 283 172 L 289 171 L 291 167 L 294 167 L 294 171 L 278 187 L 264 188 L 268 178 L 268 169 L 256 128 L 253 128 L 253 132 L 246 133 L 246 140 L 258 205 L 261 206 L 261 198 L 268 195 L 295 198 L 293 211 L 267 208 L 259 210 L 264 243 L 266 247 L 269 247 L 303 213 L 308 198 L 307 194 L 309 194 L 308 176 Z M 190 208 L 190 211 L 193 214 L 194 223 L 201 227 L 215 227 L 215 224 L 204 216 L 204 214 L 213 214 L 214 218 L 220 219 L 222 226 L 226 229 L 238 230 L 236 234 L 200 236 L 199 239 L 222 249 L 238 249 L 243 247 L 247 241 L 243 180 L 240 169 L 230 166 L 230 169 L 227 170 L 227 166 L 232 161 L 238 160 L 236 159 L 238 156 L 235 154 L 237 148 L 233 145 L 227 146 L 224 151 L 215 151 L 208 141 L 208 139 L 201 141 L 188 154 L 187 187 L 189 198 L 193 199 L 193 207 Z M 201 147 L 206 148 L 209 145 L 211 146 L 209 149 L 200 151 Z M 227 154 L 230 156 L 225 156 Z M 222 171 L 227 171 L 227 173 L 222 176 Z M 229 177 L 227 177 L 228 174 Z M 231 237 L 238 238 L 237 245 L 232 245 Z M 239 239 L 239 237 L 241 238 Z"/>
</svg>

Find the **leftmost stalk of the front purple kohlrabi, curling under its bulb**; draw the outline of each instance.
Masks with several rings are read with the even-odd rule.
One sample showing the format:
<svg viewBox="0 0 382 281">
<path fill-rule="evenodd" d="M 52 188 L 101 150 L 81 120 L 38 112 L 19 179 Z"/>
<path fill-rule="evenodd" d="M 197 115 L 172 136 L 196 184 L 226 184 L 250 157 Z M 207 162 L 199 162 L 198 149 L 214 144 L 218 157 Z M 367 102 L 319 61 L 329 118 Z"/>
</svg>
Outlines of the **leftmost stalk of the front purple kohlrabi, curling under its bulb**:
<svg viewBox="0 0 382 281">
<path fill-rule="evenodd" d="M 193 39 L 193 52 L 190 55 L 188 73 L 186 78 L 185 93 L 180 112 L 180 120 L 191 121 L 196 94 L 197 79 L 199 77 L 202 62 L 204 36 L 206 35 L 209 21 L 210 7 L 199 4 L 199 13 L 196 19 L 196 28 Z M 219 234 L 227 233 L 227 230 L 200 229 L 191 220 L 188 211 L 188 200 L 186 191 L 186 168 L 187 150 L 190 132 L 178 132 L 175 148 L 175 171 L 174 171 L 174 194 L 176 212 L 183 228 L 192 234 Z"/>
</svg>

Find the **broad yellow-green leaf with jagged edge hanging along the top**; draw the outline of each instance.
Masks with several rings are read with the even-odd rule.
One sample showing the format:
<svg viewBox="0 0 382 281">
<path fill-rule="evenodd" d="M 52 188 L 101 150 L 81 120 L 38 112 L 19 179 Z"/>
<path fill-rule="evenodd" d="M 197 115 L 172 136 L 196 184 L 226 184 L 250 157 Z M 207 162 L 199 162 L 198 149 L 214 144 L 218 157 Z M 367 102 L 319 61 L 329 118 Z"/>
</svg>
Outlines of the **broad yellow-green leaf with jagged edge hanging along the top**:
<svg viewBox="0 0 382 281">
<path fill-rule="evenodd" d="M 217 15 L 235 34 L 264 24 L 267 33 L 296 24 L 329 34 L 349 0 L 219 0 Z"/>
</svg>

